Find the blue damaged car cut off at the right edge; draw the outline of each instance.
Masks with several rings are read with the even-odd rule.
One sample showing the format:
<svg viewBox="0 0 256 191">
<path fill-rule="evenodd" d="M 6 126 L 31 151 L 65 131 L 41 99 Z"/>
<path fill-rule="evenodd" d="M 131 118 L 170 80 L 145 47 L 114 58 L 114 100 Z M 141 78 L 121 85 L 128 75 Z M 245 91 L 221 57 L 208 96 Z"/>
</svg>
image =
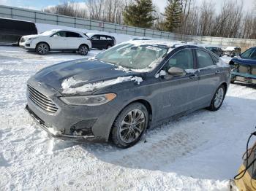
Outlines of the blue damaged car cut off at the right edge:
<svg viewBox="0 0 256 191">
<path fill-rule="evenodd" d="M 230 61 L 231 82 L 256 83 L 256 47 L 251 47 Z"/>
</svg>

